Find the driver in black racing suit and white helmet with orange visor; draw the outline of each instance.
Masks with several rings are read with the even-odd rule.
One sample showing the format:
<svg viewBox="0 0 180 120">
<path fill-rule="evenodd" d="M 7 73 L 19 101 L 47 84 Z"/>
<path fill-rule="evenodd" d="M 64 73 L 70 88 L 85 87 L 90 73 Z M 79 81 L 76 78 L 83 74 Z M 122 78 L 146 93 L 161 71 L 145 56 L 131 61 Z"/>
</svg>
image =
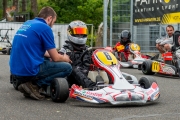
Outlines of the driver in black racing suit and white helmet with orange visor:
<svg viewBox="0 0 180 120">
<path fill-rule="evenodd" d="M 84 22 L 76 20 L 72 21 L 67 29 L 68 40 L 65 41 L 66 44 L 60 49 L 60 54 L 69 55 L 72 61 L 72 73 L 68 76 L 67 80 L 71 87 L 72 84 L 77 84 L 83 88 L 93 88 L 96 86 L 96 82 L 93 82 L 87 77 L 89 72 L 89 67 L 85 66 L 80 57 L 88 46 L 86 46 L 87 41 L 87 26 Z M 88 53 L 84 57 L 86 62 L 91 63 L 91 54 Z"/>
</svg>

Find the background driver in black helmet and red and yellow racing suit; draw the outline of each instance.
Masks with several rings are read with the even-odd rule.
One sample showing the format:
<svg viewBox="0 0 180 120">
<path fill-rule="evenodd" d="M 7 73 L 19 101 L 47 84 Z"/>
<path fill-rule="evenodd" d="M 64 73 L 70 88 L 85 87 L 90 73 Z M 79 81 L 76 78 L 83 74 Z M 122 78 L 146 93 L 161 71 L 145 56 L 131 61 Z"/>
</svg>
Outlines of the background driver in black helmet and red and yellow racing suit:
<svg viewBox="0 0 180 120">
<path fill-rule="evenodd" d="M 131 54 L 129 53 L 129 45 L 131 43 L 131 33 L 128 30 L 123 30 L 118 36 L 120 42 L 116 43 L 113 50 L 118 53 L 119 60 L 126 62 L 132 59 Z"/>
</svg>

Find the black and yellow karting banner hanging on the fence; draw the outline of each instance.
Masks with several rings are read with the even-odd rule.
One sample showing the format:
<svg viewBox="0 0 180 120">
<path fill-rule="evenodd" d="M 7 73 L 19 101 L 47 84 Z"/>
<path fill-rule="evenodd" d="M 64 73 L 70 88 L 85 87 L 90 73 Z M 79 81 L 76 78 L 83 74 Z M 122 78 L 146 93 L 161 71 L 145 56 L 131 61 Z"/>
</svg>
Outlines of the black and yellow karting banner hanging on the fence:
<svg viewBox="0 0 180 120">
<path fill-rule="evenodd" d="M 133 0 L 133 25 L 180 23 L 180 0 Z"/>
</svg>

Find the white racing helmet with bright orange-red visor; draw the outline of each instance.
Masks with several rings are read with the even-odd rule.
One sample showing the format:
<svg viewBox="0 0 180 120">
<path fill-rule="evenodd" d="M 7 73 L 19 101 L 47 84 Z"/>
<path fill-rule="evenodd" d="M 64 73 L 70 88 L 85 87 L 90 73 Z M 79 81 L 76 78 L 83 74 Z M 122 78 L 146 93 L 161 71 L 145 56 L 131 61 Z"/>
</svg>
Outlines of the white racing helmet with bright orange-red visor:
<svg viewBox="0 0 180 120">
<path fill-rule="evenodd" d="M 67 29 L 68 40 L 77 45 L 84 45 L 87 41 L 87 26 L 80 20 L 72 21 Z"/>
</svg>

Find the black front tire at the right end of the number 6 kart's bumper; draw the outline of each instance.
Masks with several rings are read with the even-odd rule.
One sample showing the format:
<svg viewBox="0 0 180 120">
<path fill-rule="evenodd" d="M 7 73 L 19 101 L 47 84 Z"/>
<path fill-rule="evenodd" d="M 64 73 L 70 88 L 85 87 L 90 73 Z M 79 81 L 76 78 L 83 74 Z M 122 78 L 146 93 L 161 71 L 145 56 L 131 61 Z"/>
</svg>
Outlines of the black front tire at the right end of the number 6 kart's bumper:
<svg viewBox="0 0 180 120">
<path fill-rule="evenodd" d="M 141 77 L 138 83 L 142 88 L 148 89 L 151 87 L 153 82 L 157 83 L 157 81 L 152 77 Z"/>
</svg>

